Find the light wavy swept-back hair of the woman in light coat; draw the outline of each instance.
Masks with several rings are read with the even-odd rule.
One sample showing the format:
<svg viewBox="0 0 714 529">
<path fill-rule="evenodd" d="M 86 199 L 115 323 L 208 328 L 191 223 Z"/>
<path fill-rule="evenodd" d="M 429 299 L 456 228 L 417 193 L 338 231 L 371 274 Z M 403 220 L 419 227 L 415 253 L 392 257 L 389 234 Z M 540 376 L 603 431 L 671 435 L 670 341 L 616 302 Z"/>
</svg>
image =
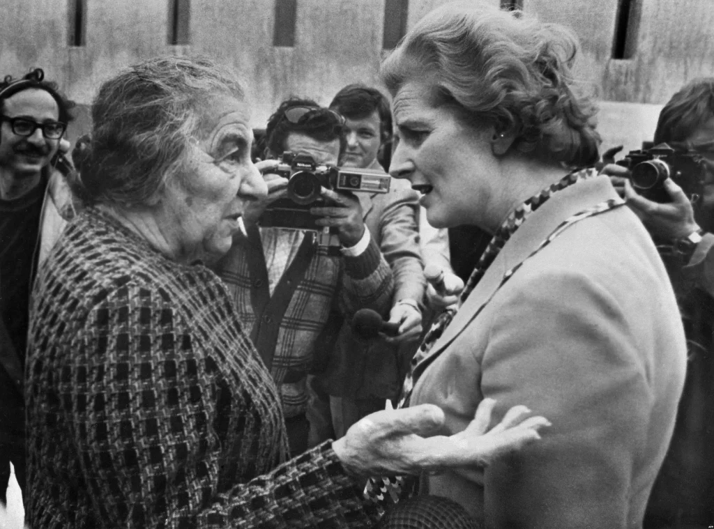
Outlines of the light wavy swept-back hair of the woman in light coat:
<svg viewBox="0 0 714 529">
<path fill-rule="evenodd" d="M 573 94 L 573 31 L 521 11 L 458 2 L 421 19 L 381 66 L 392 96 L 411 80 L 466 123 L 513 134 L 511 149 L 570 167 L 598 161 L 595 106 Z"/>
</svg>

